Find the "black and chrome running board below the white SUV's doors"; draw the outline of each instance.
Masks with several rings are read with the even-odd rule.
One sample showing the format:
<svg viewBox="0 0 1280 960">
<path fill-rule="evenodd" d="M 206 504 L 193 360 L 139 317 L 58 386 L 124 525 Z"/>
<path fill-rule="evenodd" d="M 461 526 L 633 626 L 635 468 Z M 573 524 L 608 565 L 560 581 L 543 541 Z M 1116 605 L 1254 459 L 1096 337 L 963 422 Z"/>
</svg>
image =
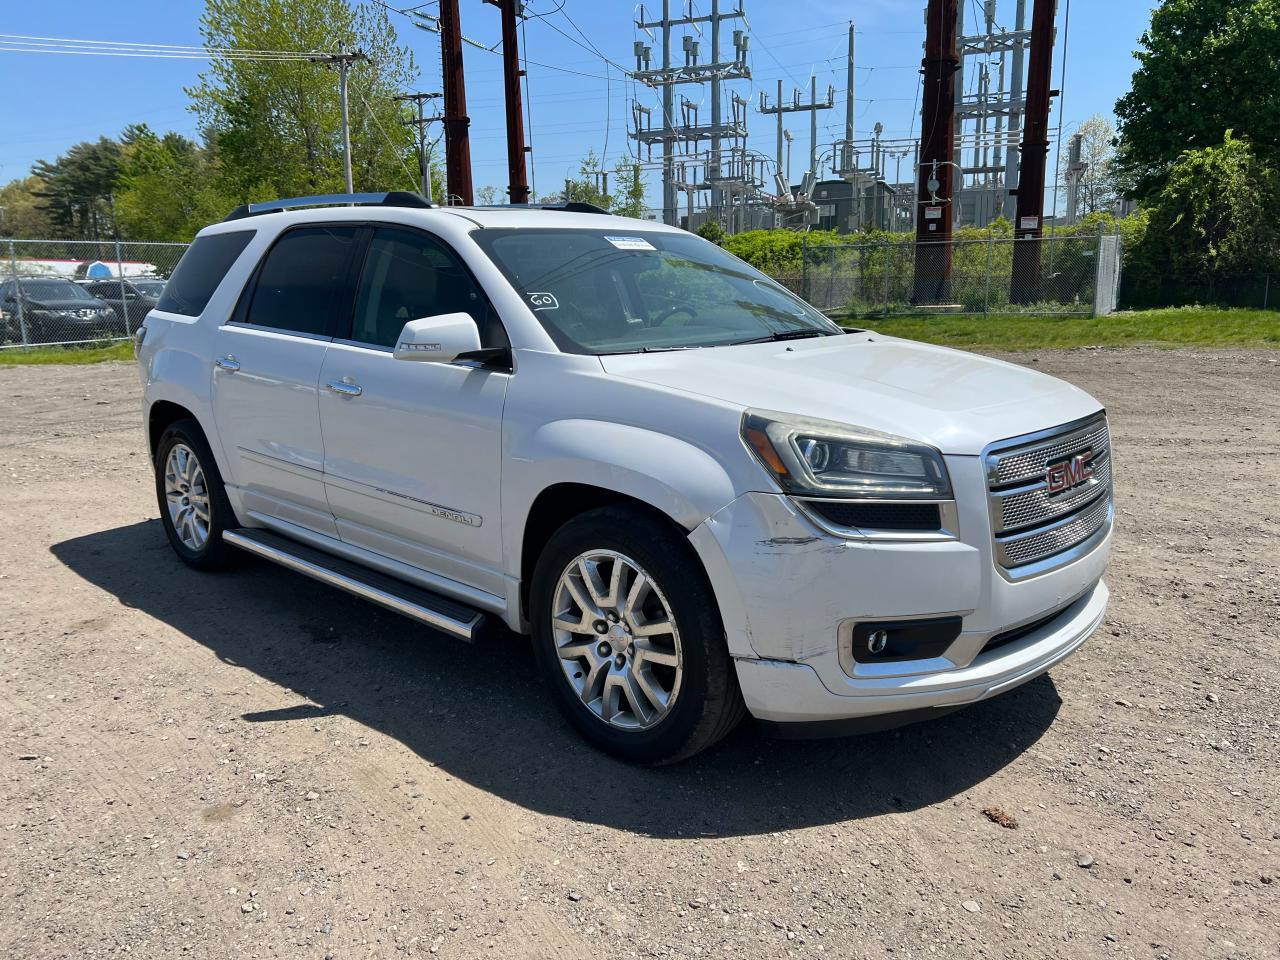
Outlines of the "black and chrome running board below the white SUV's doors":
<svg viewBox="0 0 1280 960">
<path fill-rule="evenodd" d="M 485 623 L 479 611 L 269 530 L 224 530 L 223 540 L 467 643 L 476 640 Z"/>
</svg>

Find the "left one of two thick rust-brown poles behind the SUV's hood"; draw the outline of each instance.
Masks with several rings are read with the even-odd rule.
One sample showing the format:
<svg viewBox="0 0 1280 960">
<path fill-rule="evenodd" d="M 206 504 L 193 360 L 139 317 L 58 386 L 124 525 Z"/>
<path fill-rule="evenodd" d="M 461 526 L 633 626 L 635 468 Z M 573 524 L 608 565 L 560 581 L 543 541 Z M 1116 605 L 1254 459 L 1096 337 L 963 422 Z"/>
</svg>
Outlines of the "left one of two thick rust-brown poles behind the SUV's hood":
<svg viewBox="0 0 1280 960">
<path fill-rule="evenodd" d="M 915 218 L 914 303 L 951 301 L 951 225 L 955 216 L 955 102 L 960 54 L 959 0 L 929 0 L 925 10 L 920 169 Z"/>
</svg>

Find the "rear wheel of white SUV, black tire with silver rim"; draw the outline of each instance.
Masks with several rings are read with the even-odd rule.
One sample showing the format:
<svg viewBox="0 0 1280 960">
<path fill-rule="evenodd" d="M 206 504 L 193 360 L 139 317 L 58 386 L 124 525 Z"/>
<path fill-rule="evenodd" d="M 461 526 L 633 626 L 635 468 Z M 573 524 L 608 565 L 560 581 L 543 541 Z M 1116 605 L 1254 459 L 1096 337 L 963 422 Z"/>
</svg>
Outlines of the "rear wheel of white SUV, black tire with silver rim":
<svg viewBox="0 0 1280 960">
<path fill-rule="evenodd" d="M 169 545 L 196 570 L 224 570 L 237 552 L 223 531 L 238 526 L 218 462 L 195 420 L 170 424 L 155 456 L 156 499 Z"/>
</svg>

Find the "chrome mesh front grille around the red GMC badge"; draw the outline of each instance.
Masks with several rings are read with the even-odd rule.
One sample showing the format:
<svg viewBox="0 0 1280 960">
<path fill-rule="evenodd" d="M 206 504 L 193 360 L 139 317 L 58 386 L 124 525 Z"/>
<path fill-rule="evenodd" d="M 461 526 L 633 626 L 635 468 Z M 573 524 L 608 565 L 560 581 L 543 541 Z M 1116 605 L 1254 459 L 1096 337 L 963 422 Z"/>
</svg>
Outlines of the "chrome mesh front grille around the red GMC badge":
<svg viewBox="0 0 1280 960">
<path fill-rule="evenodd" d="M 1087 462 L 1091 475 L 1051 494 L 1051 468 L 1070 462 Z M 987 451 L 986 470 L 996 562 L 1011 576 L 1053 557 L 1068 562 L 1074 548 L 1111 522 L 1111 438 L 1103 415 L 1004 440 Z"/>
</svg>

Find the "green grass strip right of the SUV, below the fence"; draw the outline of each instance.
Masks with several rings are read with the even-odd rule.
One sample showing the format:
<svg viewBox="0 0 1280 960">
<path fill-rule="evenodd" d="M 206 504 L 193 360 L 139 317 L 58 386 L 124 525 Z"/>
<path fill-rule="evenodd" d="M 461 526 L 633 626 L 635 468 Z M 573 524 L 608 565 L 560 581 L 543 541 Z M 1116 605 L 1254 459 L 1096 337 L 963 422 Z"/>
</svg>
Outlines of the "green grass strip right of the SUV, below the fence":
<svg viewBox="0 0 1280 960">
<path fill-rule="evenodd" d="M 945 347 L 1043 349 L 1048 347 L 1271 347 L 1280 348 L 1280 311 L 1170 307 L 1111 316 L 887 316 L 840 317 Z"/>
</svg>

